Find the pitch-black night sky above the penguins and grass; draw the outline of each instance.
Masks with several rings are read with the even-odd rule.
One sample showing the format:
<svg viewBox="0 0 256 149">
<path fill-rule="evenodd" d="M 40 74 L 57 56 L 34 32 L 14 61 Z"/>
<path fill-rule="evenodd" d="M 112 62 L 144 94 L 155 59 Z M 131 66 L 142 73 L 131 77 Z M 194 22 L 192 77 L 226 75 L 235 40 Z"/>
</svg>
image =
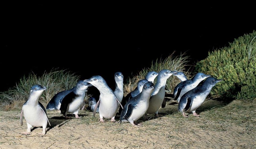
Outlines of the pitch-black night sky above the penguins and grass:
<svg viewBox="0 0 256 149">
<path fill-rule="evenodd" d="M 1 55 L 15 65 L 0 60 L 0 91 L 31 70 L 41 74 L 53 67 L 74 71 L 81 79 L 102 75 L 110 83 L 115 72 L 121 71 L 126 79 L 174 50 L 176 54 L 187 51 L 190 64 L 195 64 L 206 58 L 208 51 L 256 30 L 256 25 L 249 23 L 254 9 L 248 7 L 174 8 L 10 14 L 2 19 L 6 54 Z M 96 61 L 101 61 L 101 66 Z"/>
</svg>

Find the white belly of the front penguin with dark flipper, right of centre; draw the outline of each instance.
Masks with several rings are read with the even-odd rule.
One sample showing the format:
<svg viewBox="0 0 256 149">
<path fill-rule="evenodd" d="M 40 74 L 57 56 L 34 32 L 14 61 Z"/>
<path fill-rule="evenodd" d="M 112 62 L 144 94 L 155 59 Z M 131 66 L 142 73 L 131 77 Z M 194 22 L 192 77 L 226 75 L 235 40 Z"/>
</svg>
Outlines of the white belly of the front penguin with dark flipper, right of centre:
<svg viewBox="0 0 256 149">
<path fill-rule="evenodd" d="M 149 108 L 149 102 L 142 102 L 139 103 L 134 109 L 133 112 L 131 113 L 131 116 L 128 118 L 129 120 L 136 121 L 139 118 L 141 118 L 147 109 Z"/>
</svg>

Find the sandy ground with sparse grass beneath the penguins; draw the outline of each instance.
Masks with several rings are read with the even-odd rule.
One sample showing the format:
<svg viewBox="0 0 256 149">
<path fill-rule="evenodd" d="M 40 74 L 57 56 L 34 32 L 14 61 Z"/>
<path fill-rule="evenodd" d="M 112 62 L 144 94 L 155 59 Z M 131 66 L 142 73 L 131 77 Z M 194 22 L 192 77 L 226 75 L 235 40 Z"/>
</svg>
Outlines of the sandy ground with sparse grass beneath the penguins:
<svg viewBox="0 0 256 149">
<path fill-rule="evenodd" d="M 208 100 L 197 110 L 201 117 L 183 118 L 177 104 L 167 105 L 160 118 L 139 120 L 142 127 L 99 123 L 99 115 L 86 110 L 81 119 L 70 120 L 47 111 L 52 126 L 45 136 L 37 136 L 42 128 L 21 136 L 26 123 L 23 118 L 20 126 L 20 111 L 0 112 L 0 148 L 256 148 L 255 106 L 255 101 Z"/>
</svg>

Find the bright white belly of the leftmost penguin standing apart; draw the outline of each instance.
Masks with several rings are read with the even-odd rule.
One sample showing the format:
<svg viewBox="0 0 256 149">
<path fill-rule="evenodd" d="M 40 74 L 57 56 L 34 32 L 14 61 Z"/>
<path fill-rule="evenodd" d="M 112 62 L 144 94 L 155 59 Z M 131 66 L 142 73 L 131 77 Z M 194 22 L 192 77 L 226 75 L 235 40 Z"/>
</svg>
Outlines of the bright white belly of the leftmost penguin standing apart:
<svg viewBox="0 0 256 149">
<path fill-rule="evenodd" d="M 24 118 L 27 123 L 35 127 L 41 127 L 47 125 L 48 120 L 46 114 L 43 112 L 41 107 L 38 106 L 23 106 Z"/>
</svg>

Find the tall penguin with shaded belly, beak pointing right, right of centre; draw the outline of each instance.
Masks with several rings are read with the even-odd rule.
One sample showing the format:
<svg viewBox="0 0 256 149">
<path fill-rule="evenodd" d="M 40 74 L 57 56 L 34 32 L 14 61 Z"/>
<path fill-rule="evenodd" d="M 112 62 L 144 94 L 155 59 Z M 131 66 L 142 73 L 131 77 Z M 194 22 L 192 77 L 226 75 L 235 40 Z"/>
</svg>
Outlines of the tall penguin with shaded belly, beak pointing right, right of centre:
<svg viewBox="0 0 256 149">
<path fill-rule="evenodd" d="M 149 108 L 147 114 L 155 113 L 155 116 L 158 118 L 158 110 L 163 103 L 165 98 L 165 85 L 167 79 L 172 75 L 177 73 L 177 71 L 170 71 L 163 69 L 158 73 L 157 82 L 155 83 L 155 89 L 149 99 Z"/>
</svg>

